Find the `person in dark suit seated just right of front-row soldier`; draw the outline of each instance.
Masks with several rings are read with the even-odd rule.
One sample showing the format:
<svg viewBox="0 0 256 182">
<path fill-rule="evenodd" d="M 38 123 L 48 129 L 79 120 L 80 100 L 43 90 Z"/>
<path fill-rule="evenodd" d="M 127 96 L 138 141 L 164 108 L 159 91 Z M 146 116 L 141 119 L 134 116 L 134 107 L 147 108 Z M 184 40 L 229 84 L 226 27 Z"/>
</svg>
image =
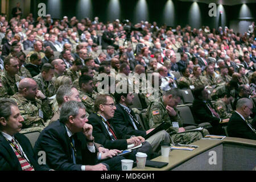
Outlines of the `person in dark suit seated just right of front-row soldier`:
<svg viewBox="0 0 256 182">
<path fill-rule="evenodd" d="M 194 90 L 195 100 L 193 101 L 192 111 L 195 117 L 196 123 L 209 122 L 212 128 L 207 129 L 210 134 L 224 135 L 222 126 L 229 121 L 227 119 L 221 119 L 217 112 L 213 109 L 212 103 L 209 101 L 208 90 L 203 86 L 196 86 Z"/>
</svg>

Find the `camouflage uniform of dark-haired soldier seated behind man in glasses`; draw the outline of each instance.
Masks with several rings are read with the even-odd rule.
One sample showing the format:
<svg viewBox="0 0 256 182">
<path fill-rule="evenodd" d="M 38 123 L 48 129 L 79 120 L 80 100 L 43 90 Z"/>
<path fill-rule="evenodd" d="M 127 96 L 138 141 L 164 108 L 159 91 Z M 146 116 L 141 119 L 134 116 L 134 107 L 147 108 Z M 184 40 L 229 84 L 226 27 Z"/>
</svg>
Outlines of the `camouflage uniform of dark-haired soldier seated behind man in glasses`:
<svg viewBox="0 0 256 182">
<path fill-rule="evenodd" d="M 94 112 L 94 101 L 99 94 L 93 90 L 92 93 L 85 93 L 79 89 L 79 96 L 81 98 L 82 104 L 86 107 L 86 112 L 91 114 Z"/>
</svg>

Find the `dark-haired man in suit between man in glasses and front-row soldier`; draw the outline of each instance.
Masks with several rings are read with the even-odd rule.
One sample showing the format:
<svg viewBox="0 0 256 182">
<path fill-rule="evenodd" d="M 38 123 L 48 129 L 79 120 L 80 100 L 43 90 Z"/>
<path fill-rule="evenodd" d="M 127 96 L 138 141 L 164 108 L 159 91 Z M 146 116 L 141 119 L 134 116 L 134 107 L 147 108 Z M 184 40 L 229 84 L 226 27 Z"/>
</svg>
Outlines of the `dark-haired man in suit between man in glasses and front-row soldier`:
<svg viewBox="0 0 256 182">
<path fill-rule="evenodd" d="M 142 136 L 143 138 L 154 129 L 145 131 L 141 124 L 138 122 L 137 117 L 133 110 L 129 106 L 133 105 L 133 94 L 132 93 L 115 93 L 115 101 L 117 104 L 115 107 L 114 117 L 110 119 L 110 123 L 114 127 L 118 135 Z M 170 143 L 170 135 L 166 131 L 160 131 L 154 134 L 152 137 L 146 139 L 151 144 L 153 151 L 160 151 L 160 142 Z"/>
</svg>

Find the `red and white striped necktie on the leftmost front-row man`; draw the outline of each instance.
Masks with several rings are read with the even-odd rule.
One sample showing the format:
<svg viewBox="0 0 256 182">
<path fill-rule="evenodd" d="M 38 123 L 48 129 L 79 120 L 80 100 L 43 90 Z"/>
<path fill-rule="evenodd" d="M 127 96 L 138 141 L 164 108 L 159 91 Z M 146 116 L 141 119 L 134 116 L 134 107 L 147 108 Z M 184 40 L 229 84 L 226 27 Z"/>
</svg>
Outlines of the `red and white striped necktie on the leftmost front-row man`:
<svg viewBox="0 0 256 182">
<path fill-rule="evenodd" d="M 14 139 L 11 140 L 11 146 L 14 148 L 15 155 L 19 160 L 22 171 L 35 171 L 34 167 L 28 163 L 26 158 L 23 157 L 22 152 L 19 150 L 19 146 Z"/>
</svg>

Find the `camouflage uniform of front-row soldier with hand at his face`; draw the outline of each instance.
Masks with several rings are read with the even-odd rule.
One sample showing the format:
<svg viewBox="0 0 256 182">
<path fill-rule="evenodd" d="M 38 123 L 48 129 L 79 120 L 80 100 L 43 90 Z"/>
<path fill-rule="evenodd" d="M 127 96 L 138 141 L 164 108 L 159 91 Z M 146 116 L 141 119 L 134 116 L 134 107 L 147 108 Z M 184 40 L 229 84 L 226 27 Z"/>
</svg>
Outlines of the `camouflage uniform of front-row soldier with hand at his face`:
<svg viewBox="0 0 256 182">
<path fill-rule="evenodd" d="M 159 100 L 151 102 L 147 108 L 146 117 L 149 120 L 150 128 L 155 128 L 159 126 L 163 121 L 166 121 L 171 124 L 171 127 L 168 132 L 170 132 L 172 140 L 174 143 L 183 143 L 188 144 L 200 140 L 203 135 L 200 131 L 177 133 L 178 128 L 173 127 L 173 122 L 179 123 L 179 127 L 183 125 L 182 119 L 180 118 L 179 111 L 175 108 L 177 115 L 175 117 L 170 117 L 166 106 L 163 103 L 163 97 L 160 97 Z"/>
</svg>

